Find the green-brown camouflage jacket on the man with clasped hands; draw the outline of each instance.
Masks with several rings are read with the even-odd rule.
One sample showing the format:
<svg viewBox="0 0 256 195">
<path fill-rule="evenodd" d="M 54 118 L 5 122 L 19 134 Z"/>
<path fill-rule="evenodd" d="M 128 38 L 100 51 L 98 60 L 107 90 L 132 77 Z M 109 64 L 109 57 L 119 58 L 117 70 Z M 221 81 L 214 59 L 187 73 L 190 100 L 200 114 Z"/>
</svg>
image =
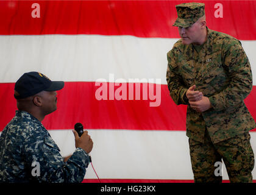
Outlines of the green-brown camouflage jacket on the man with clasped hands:
<svg viewBox="0 0 256 195">
<path fill-rule="evenodd" d="M 177 105 L 188 105 L 189 138 L 204 143 L 206 127 L 213 143 L 218 143 L 256 127 L 244 104 L 252 90 L 252 71 L 239 40 L 207 27 L 207 41 L 199 54 L 193 44 L 179 40 L 167 59 L 171 98 Z M 209 98 L 212 108 L 199 113 L 190 107 L 185 94 L 192 85 Z"/>
</svg>

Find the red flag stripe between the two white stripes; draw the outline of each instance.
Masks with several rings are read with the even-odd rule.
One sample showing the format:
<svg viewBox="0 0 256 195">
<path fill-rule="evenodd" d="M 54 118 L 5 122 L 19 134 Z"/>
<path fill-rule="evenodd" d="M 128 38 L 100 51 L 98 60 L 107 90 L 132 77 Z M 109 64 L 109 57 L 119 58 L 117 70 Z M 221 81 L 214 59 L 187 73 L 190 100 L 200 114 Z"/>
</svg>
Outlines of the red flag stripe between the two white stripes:
<svg viewBox="0 0 256 195">
<path fill-rule="evenodd" d="M 125 83 L 126 84 L 126 83 Z M 130 129 L 130 130 L 185 130 L 186 105 L 176 105 L 169 96 L 167 85 L 154 84 L 155 89 L 161 89 L 161 102 L 158 107 L 150 107 L 154 100 L 143 100 L 143 83 L 140 83 L 140 99 L 135 98 L 133 84 L 133 100 L 129 99 L 129 84 L 127 83 L 127 100 L 97 100 L 96 91 L 101 86 L 95 82 L 65 82 L 63 90 L 58 91 L 57 111 L 46 116 L 43 124 L 48 130 L 73 129 L 76 122 L 82 122 L 86 129 Z M 111 83 L 107 83 L 108 90 Z M 148 83 L 146 83 L 148 85 Z M 120 85 L 121 86 L 121 85 Z M 0 129 L 13 118 L 16 101 L 13 97 L 14 83 L 0 83 L 1 113 Z M 115 86 L 114 92 L 120 87 Z M 155 93 L 156 94 L 156 93 Z M 254 119 L 256 119 L 256 88 L 246 98 L 245 103 Z"/>
</svg>

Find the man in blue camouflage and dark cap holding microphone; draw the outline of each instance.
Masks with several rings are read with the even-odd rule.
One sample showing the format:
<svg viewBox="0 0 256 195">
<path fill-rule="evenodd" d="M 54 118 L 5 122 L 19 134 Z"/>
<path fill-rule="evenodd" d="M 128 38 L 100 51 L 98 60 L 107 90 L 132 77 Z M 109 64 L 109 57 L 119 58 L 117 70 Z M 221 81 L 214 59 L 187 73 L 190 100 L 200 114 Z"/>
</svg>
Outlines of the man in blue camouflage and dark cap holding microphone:
<svg viewBox="0 0 256 195">
<path fill-rule="evenodd" d="M 57 109 L 56 91 L 63 81 L 41 73 L 25 73 L 15 83 L 18 110 L 0 137 L 0 182 L 82 182 L 93 147 L 88 132 L 79 138 L 76 151 L 64 161 L 60 149 L 41 124 Z"/>
</svg>

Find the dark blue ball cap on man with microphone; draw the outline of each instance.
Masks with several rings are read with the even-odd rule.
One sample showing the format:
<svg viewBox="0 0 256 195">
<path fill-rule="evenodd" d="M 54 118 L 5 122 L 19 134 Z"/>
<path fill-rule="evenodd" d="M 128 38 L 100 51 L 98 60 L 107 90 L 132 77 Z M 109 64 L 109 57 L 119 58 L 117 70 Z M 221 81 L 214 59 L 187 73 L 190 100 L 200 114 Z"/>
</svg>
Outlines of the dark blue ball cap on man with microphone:
<svg viewBox="0 0 256 195">
<path fill-rule="evenodd" d="M 63 81 L 52 81 L 42 73 L 24 73 L 15 83 L 14 98 L 23 99 L 41 91 L 58 91 L 64 87 Z"/>
</svg>

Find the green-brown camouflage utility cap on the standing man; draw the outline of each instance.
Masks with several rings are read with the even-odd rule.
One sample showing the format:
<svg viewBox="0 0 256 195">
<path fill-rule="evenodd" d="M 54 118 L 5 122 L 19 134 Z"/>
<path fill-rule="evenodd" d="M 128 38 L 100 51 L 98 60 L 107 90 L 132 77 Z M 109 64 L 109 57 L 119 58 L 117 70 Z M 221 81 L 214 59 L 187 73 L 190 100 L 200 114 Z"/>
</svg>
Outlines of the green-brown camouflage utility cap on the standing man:
<svg viewBox="0 0 256 195">
<path fill-rule="evenodd" d="M 189 2 L 185 4 L 175 5 L 178 13 L 173 26 L 189 27 L 194 24 L 199 18 L 205 15 L 204 4 L 199 2 Z"/>
</svg>

